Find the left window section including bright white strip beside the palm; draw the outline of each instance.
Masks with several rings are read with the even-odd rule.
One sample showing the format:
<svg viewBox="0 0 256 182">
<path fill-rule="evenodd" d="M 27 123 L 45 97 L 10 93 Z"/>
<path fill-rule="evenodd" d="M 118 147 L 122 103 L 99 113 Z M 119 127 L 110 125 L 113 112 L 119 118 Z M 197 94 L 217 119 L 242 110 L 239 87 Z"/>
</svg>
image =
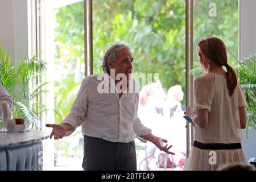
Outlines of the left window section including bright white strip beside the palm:
<svg viewBox="0 0 256 182">
<path fill-rule="evenodd" d="M 47 79 L 51 82 L 46 102 L 57 111 L 47 115 L 45 122 L 55 121 L 59 124 L 69 114 L 84 78 L 84 2 L 40 1 L 39 13 L 41 53 L 48 62 Z M 55 151 L 55 167 L 48 169 L 81 170 L 81 138 L 79 127 L 71 136 L 55 140 L 54 149 L 47 153 L 49 156 Z M 69 158 L 71 156 L 72 160 Z M 51 160 L 53 162 L 53 156 Z"/>
</svg>

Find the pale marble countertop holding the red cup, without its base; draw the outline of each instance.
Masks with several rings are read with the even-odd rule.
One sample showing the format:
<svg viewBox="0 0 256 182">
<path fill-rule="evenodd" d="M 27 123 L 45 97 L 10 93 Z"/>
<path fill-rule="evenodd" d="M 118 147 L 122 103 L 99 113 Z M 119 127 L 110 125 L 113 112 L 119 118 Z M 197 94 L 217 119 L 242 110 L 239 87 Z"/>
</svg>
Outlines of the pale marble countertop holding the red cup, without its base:
<svg viewBox="0 0 256 182">
<path fill-rule="evenodd" d="M 0 132 L 0 148 L 18 147 L 47 139 L 46 131 L 30 129 L 22 133 Z"/>
</svg>

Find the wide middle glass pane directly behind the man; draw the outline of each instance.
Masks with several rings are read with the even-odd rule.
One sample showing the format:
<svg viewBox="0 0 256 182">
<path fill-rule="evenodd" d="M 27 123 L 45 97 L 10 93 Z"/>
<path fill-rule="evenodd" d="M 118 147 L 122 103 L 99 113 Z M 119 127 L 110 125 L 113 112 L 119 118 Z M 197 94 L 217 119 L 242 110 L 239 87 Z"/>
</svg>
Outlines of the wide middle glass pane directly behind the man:
<svg viewBox="0 0 256 182">
<path fill-rule="evenodd" d="M 102 72 L 101 61 L 109 44 L 119 41 L 131 47 L 133 75 L 137 81 L 139 74 L 146 77 L 150 76 L 147 73 L 154 74 L 154 80 L 140 84 L 140 99 L 150 100 L 147 108 L 152 111 L 140 102 L 138 114 L 153 133 L 173 144 L 176 155 L 169 156 L 172 165 L 168 163 L 168 169 L 182 169 L 186 151 L 186 122 L 182 117 L 185 109 L 185 1 L 93 1 L 94 74 Z M 154 90 L 151 97 L 143 98 L 150 89 Z M 164 169 L 163 160 L 159 160 L 161 152 L 148 143 L 137 140 L 138 169 Z M 146 156 L 147 160 L 143 160 Z"/>
</svg>

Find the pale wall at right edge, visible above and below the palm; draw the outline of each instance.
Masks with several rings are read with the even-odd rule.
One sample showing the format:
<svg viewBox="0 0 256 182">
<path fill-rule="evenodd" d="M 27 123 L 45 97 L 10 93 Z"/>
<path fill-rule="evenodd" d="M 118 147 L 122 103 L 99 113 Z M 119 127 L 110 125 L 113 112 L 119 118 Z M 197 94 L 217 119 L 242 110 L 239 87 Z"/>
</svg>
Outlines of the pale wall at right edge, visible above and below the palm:
<svg viewBox="0 0 256 182">
<path fill-rule="evenodd" d="M 240 60 L 254 55 L 256 52 L 256 1 L 240 1 Z M 256 130 L 249 129 L 242 132 L 242 148 L 246 160 L 256 158 Z"/>
</svg>

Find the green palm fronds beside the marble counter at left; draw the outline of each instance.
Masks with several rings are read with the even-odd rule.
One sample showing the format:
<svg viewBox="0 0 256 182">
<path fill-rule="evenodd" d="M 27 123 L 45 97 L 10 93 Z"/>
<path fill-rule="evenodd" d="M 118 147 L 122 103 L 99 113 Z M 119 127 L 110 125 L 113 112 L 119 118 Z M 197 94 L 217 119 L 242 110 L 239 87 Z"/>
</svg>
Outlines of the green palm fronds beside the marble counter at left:
<svg viewBox="0 0 256 182">
<path fill-rule="evenodd" d="M 25 122 L 40 129 L 40 114 L 47 112 L 47 107 L 40 103 L 39 97 L 46 93 L 43 86 L 47 82 L 31 86 L 31 81 L 40 77 L 46 71 L 46 63 L 38 56 L 32 59 L 17 61 L 11 65 L 11 57 L 0 46 L 0 82 L 14 101 L 14 118 L 24 118 Z"/>
</svg>

